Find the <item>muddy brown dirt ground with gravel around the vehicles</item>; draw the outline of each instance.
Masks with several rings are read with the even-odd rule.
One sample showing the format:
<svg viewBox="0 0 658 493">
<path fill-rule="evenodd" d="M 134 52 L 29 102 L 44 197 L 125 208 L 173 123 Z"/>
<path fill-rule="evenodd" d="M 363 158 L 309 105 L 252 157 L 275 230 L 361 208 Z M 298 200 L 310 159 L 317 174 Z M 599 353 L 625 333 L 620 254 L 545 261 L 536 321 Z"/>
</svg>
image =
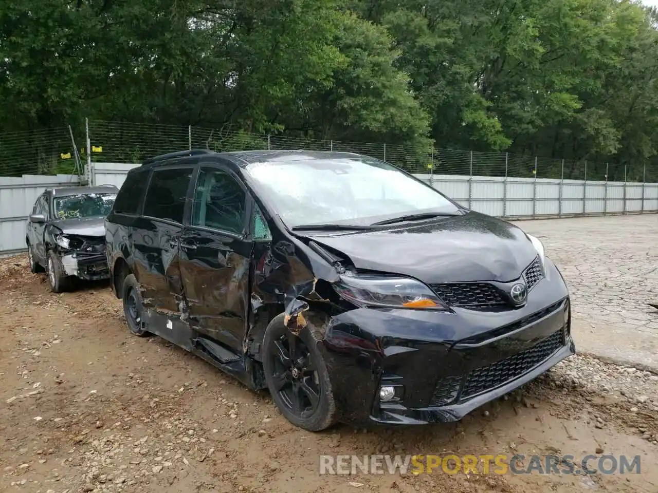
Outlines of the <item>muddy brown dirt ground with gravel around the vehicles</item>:
<svg viewBox="0 0 658 493">
<path fill-rule="evenodd" d="M 107 284 L 53 294 L 18 256 L 0 259 L 0 293 L 3 492 L 658 491 L 647 371 L 576 356 L 461 423 L 313 434 L 265 392 L 131 336 Z M 641 472 L 319 475 L 321 454 L 611 454 L 640 456 Z"/>
</svg>

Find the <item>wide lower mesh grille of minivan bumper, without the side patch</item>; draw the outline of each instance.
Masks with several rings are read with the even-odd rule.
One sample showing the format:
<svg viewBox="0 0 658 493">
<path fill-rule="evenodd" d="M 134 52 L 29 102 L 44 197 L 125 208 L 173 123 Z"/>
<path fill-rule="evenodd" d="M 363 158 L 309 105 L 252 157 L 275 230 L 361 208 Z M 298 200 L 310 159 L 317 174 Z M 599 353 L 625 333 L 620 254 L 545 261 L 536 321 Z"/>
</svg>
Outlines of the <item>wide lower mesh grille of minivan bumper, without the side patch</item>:
<svg viewBox="0 0 658 493">
<path fill-rule="evenodd" d="M 474 369 L 468 374 L 461 398 L 472 397 L 520 377 L 546 360 L 562 345 L 562 331 L 559 330 L 532 348 L 505 358 L 505 360 Z"/>
</svg>

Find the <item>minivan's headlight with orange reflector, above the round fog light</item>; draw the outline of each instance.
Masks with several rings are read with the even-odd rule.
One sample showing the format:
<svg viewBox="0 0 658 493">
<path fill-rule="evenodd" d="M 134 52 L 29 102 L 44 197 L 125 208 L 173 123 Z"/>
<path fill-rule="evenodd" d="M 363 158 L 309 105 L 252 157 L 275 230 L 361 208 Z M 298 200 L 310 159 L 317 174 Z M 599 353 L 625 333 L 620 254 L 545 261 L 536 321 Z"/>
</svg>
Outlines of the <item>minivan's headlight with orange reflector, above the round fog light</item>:
<svg viewBox="0 0 658 493">
<path fill-rule="evenodd" d="M 334 289 L 356 306 L 447 310 L 434 292 L 416 279 L 387 275 L 342 275 Z"/>
</svg>

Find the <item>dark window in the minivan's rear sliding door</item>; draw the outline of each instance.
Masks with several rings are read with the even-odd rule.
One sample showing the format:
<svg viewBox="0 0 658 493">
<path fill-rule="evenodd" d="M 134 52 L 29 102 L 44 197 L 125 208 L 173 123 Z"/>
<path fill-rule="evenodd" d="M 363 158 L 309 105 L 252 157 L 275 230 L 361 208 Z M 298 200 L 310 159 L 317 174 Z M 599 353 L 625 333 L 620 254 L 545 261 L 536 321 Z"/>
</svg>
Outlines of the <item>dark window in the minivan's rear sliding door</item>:
<svg viewBox="0 0 658 493">
<path fill-rule="evenodd" d="M 194 168 L 155 170 L 144 202 L 144 216 L 183 222 L 185 199 Z"/>
</svg>

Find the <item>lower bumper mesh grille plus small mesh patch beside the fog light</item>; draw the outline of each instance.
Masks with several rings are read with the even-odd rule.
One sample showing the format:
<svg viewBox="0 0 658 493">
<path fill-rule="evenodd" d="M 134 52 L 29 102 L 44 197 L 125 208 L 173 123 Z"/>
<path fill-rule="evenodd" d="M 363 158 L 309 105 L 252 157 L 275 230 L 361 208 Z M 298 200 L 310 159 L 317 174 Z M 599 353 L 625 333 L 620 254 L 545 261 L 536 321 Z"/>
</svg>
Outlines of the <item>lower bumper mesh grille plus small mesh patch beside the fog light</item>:
<svg viewBox="0 0 658 493">
<path fill-rule="evenodd" d="M 465 376 L 443 377 L 436 383 L 430 406 L 447 406 L 463 402 L 500 387 L 541 364 L 563 346 L 562 329 L 537 344 L 499 362 L 476 368 Z M 461 388 L 461 392 L 459 392 Z"/>
</svg>

